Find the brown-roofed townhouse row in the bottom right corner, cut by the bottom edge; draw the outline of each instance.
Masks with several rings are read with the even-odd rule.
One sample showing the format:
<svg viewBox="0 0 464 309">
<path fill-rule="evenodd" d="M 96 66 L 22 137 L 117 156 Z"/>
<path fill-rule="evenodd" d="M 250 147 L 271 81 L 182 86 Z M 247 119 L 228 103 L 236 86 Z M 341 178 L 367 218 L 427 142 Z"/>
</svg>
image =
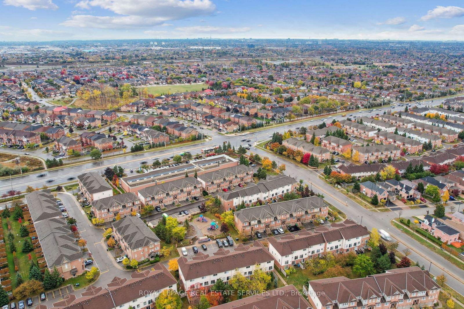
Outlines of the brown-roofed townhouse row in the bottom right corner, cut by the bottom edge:
<svg viewBox="0 0 464 309">
<path fill-rule="evenodd" d="M 335 277 L 309 281 L 303 292 L 314 309 L 409 309 L 432 307 L 439 285 L 417 266 L 365 278 Z"/>
</svg>

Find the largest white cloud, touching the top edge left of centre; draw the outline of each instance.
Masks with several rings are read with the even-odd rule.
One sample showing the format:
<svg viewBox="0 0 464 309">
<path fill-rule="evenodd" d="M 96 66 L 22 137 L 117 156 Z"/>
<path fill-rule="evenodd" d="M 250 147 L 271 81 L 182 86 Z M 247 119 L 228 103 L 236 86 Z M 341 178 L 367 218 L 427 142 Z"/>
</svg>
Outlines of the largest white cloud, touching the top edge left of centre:
<svg viewBox="0 0 464 309">
<path fill-rule="evenodd" d="M 162 25 L 169 20 L 208 16 L 216 9 L 212 0 L 81 0 L 76 7 L 81 9 L 99 7 L 116 15 L 73 15 L 61 25 L 127 29 Z M 89 24 L 85 25 L 83 22 Z"/>
</svg>

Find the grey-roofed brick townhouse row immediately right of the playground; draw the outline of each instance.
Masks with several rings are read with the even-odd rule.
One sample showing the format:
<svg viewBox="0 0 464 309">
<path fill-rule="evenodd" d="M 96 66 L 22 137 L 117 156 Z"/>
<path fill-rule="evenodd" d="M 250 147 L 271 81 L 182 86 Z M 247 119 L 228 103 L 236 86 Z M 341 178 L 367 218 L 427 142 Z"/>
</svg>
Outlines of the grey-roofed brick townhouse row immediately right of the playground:
<svg viewBox="0 0 464 309">
<path fill-rule="evenodd" d="M 238 231 L 252 234 L 278 227 L 302 225 L 316 218 L 325 218 L 329 206 L 318 196 L 276 202 L 238 210 L 234 224 Z"/>
</svg>

